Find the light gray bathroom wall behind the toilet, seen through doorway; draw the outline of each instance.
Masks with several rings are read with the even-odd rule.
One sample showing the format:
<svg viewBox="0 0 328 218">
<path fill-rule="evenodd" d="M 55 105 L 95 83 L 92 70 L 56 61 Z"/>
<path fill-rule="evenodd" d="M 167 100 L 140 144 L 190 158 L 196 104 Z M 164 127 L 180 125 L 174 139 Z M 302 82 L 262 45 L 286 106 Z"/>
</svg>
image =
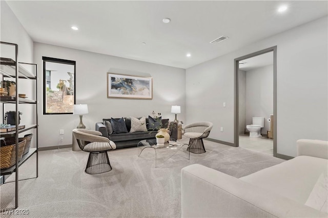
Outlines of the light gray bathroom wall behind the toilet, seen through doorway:
<svg viewBox="0 0 328 218">
<path fill-rule="evenodd" d="M 262 134 L 270 130 L 270 114 L 273 114 L 273 65 L 246 71 L 246 125 L 252 117 L 264 117 Z"/>
</svg>

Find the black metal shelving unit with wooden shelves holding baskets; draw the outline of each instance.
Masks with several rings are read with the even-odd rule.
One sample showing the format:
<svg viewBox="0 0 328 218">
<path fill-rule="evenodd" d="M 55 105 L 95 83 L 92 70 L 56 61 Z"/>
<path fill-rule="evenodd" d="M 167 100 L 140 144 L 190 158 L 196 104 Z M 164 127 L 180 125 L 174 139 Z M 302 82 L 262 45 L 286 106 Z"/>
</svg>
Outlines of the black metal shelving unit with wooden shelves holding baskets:
<svg viewBox="0 0 328 218">
<path fill-rule="evenodd" d="M 1 169 L 0 175 L 1 176 L 8 176 L 13 173 L 15 173 L 15 207 L 14 208 L 1 208 L 2 211 L 16 209 L 18 207 L 18 169 L 19 166 L 24 164 L 26 160 L 28 160 L 32 155 L 36 155 L 36 177 L 38 177 L 38 115 L 37 115 L 37 64 L 32 63 L 23 63 L 18 62 L 18 45 L 14 43 L 9 42 L 0 42 L 1 46 L 8 45 L 13 46 L 15 48 L 15 60 L 10 58 L 0 58 L 0 75 L 2 75 L 2 81 L 4 78 L 13 78 L 16 82 L 16 95 L 15 96 L 0 96 L 0 103 L 2 104 L 3 113 L 5 113 L 5 105 L 6 104 L 15 104 L 15 111 L 19 111 L 19 107 L 24 104 L 35 104 L 35 124 L 31 125 L 25 125 L 24 129 L 16 129 L 15 131 L 5 132 L 1 133 L 0 138 L 6 138 L 6 137 L 15 137 L 16 143 L 18 144 L 18 134 L 26 132 L 28 130 L 35 129 L 35 134 L 33 134 L 33 138 L 35 140 L 36 148 L 30 148 L 30 151 L 25 154 L 20 161 L 18 160 L 18 149 L 16 150 L 16 162 L 13 166 L 7 169 Z M 35 67 L 35 74 L 27 70 L 23 67 L 23 65 L 32 65 Z M 19 79 L 27 79 L 27 80 L 34 80 L 35 81 L 35 99 L 25 99 L 25 98 L 18 98 L 18 90 L 19 90 Z M 33 87 L 31 87 L 33 88 Z M 34 89 L 33 89 L 34 90 Z M 19 114 L 16 113 L 16 126 L 18 126 L 18 116 Z M 4 114 L 3 114 L 4 117 Z M 4 120 L 3 120 L 4 121 Z M 32 178 L 28 178 L 32 179 Z"/>
</svg>

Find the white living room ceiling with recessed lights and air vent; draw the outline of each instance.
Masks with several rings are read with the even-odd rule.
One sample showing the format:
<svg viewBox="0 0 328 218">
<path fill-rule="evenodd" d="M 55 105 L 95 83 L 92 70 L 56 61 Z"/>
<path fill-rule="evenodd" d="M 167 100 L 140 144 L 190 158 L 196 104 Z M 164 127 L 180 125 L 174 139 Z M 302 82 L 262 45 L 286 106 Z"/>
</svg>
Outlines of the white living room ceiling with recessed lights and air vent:
<svg viewBox="0 0 328 218">
<path fill-rule="evenodd" d="M 327 15 L 327 1 L 7 4 L 35 42 L 180 68 L 189 68 Z M 281 5 L 288 6 L 283 13 L 277 11 Z M 166 17 L 171 19 L 170 23 L 162 22 Z M 73 31 L 71 26 L 79 30 Z M 210 43 L 222 35 L 229 38 Z"/>
</svg>

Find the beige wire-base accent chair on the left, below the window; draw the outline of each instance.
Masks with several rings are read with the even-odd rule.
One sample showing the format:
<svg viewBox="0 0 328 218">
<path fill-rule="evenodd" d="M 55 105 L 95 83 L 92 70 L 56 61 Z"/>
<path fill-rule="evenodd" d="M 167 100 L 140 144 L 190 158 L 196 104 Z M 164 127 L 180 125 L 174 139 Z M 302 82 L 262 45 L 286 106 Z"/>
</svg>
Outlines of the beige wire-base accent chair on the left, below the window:
<svg viewBox="0 0 328 218">
<path fill-rule="evenodd" d="M 107 152 L 116 149 L 116 144 L 95 130 L 74 129 L 73 134 L 82 151 L 90 152 L 87 174 L 101 174 L 112 170 Z"/>
</svg>

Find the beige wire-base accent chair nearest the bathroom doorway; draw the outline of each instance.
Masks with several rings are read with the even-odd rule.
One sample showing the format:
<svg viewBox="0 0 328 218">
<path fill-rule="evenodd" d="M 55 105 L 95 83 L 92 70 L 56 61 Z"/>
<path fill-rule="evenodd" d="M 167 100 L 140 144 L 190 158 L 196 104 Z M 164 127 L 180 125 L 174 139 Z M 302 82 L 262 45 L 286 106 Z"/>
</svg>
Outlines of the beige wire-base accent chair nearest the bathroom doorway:
<svg viewBox="0 0 328 218">
<path fill-rule="evenodd" d="M 211 122 L 196 122 L 188 124 L 185 126 L 185 137 L 189 139 L 189 148 L 187 151 L 190 151 L 194 154 L 205 153 L 203 138 L 206 138 L 210 135 L 213 124 Z"/>
</svg>

